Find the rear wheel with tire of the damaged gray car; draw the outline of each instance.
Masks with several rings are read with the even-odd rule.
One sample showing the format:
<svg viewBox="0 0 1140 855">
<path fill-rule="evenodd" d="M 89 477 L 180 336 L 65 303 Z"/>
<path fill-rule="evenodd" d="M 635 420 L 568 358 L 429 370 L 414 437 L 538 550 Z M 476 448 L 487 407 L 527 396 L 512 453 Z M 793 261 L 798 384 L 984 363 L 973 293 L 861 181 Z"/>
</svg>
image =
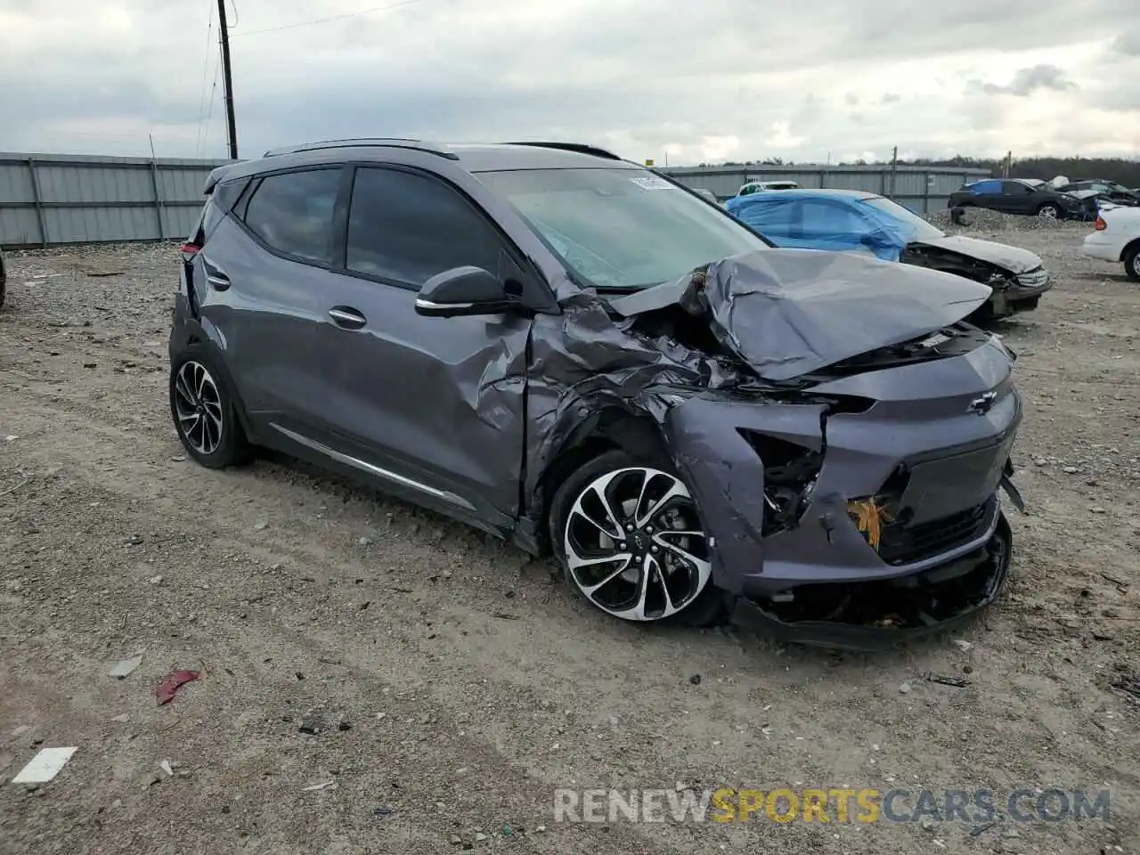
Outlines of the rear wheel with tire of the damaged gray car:
<svg viewBox="0 0 1140 855">
<path fill-rule="evenodd" d="M 250 446 L 210 351 L 192 344 L 170 366 L 170 415 L 186 453 L 207 469 L 245 463 Z"/>
</svg>

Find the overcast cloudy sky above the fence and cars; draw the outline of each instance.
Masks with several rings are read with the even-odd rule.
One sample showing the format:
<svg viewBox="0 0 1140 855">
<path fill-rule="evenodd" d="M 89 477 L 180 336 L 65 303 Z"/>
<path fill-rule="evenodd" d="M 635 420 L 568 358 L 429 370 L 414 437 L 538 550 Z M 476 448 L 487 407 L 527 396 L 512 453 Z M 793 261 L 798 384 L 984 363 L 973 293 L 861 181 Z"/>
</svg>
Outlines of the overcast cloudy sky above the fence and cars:
<svg viewBox="0 0 1140 855">
<path fill-rule="evenodd" d="M 1140 156 L 1138 0 L 227 2 L 243 156 L 352 136 Z M 215 7 L 0 0 L 0 150 L 225 156 Z"/>
</svg>

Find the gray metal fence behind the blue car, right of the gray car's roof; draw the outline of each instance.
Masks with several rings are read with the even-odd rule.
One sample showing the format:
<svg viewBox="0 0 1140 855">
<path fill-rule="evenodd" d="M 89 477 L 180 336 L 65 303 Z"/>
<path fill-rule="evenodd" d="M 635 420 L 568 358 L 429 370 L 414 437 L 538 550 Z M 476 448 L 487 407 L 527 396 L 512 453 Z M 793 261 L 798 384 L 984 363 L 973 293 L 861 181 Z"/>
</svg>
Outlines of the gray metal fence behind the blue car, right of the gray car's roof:
<svg viewBox="0 0 1140 855">
<path fill-rule="evenodd" d="M 953 166 L 674 166 L 662 172 L 693 188 L 703 187 L 718 198 L 736 195 L 746 181 L 795 181 L 800 187 L 826 187 L 836 190 L 866 190 L 890 196 L 915 213 L 927 214 L 946 207 L 950 194 L 967 181 L 990 178 L 984 169 Z"/>
</svg>

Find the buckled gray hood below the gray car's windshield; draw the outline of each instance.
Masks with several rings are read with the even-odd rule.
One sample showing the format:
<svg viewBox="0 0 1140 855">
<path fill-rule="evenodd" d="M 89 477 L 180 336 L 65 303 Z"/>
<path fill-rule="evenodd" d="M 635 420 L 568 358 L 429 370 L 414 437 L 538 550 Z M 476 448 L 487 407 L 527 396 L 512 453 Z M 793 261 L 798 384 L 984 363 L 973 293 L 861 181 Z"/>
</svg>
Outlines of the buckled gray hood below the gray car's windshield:
<svg viewBox="0 0 1140 855">
<path fill-rule="evenodd" d="M 624 317 L 679 306 L 722 345 L 780 382 L 899 344 L 967 317 L 988 286 L 853 253 L 767 250 L 610 301 Z"/>
</svg>

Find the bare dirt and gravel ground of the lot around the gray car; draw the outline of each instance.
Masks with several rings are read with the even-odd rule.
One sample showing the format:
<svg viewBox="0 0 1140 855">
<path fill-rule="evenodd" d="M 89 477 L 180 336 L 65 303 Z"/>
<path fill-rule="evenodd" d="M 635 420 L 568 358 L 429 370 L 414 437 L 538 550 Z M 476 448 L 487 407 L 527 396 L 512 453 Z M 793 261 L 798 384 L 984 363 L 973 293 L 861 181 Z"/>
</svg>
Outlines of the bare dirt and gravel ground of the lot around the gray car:
<svg viewBox="0 0 1140 855">
<path fill-rule="evenodd" d="M 1113 689 L 1140 669 L 1140 288 L 1083 234 L 979 235 L 1058 277 L 1000 329 L 1027 407 L 1016 573 L 967 645 L 879 656 L 622 626 L 544 564 L 299 464 L 198 467 L 166 402 L 173 251 L 10 254 L 0 782 L 79 751 L 0 787 L 0 852 L 1140 852 L 1140 707 Z M 203 674 L 160 707 L 177 668 Z M 1108 788 L 1112 820 L 553 821 L 556 787 L 678 783 Z"/>
</svg>

